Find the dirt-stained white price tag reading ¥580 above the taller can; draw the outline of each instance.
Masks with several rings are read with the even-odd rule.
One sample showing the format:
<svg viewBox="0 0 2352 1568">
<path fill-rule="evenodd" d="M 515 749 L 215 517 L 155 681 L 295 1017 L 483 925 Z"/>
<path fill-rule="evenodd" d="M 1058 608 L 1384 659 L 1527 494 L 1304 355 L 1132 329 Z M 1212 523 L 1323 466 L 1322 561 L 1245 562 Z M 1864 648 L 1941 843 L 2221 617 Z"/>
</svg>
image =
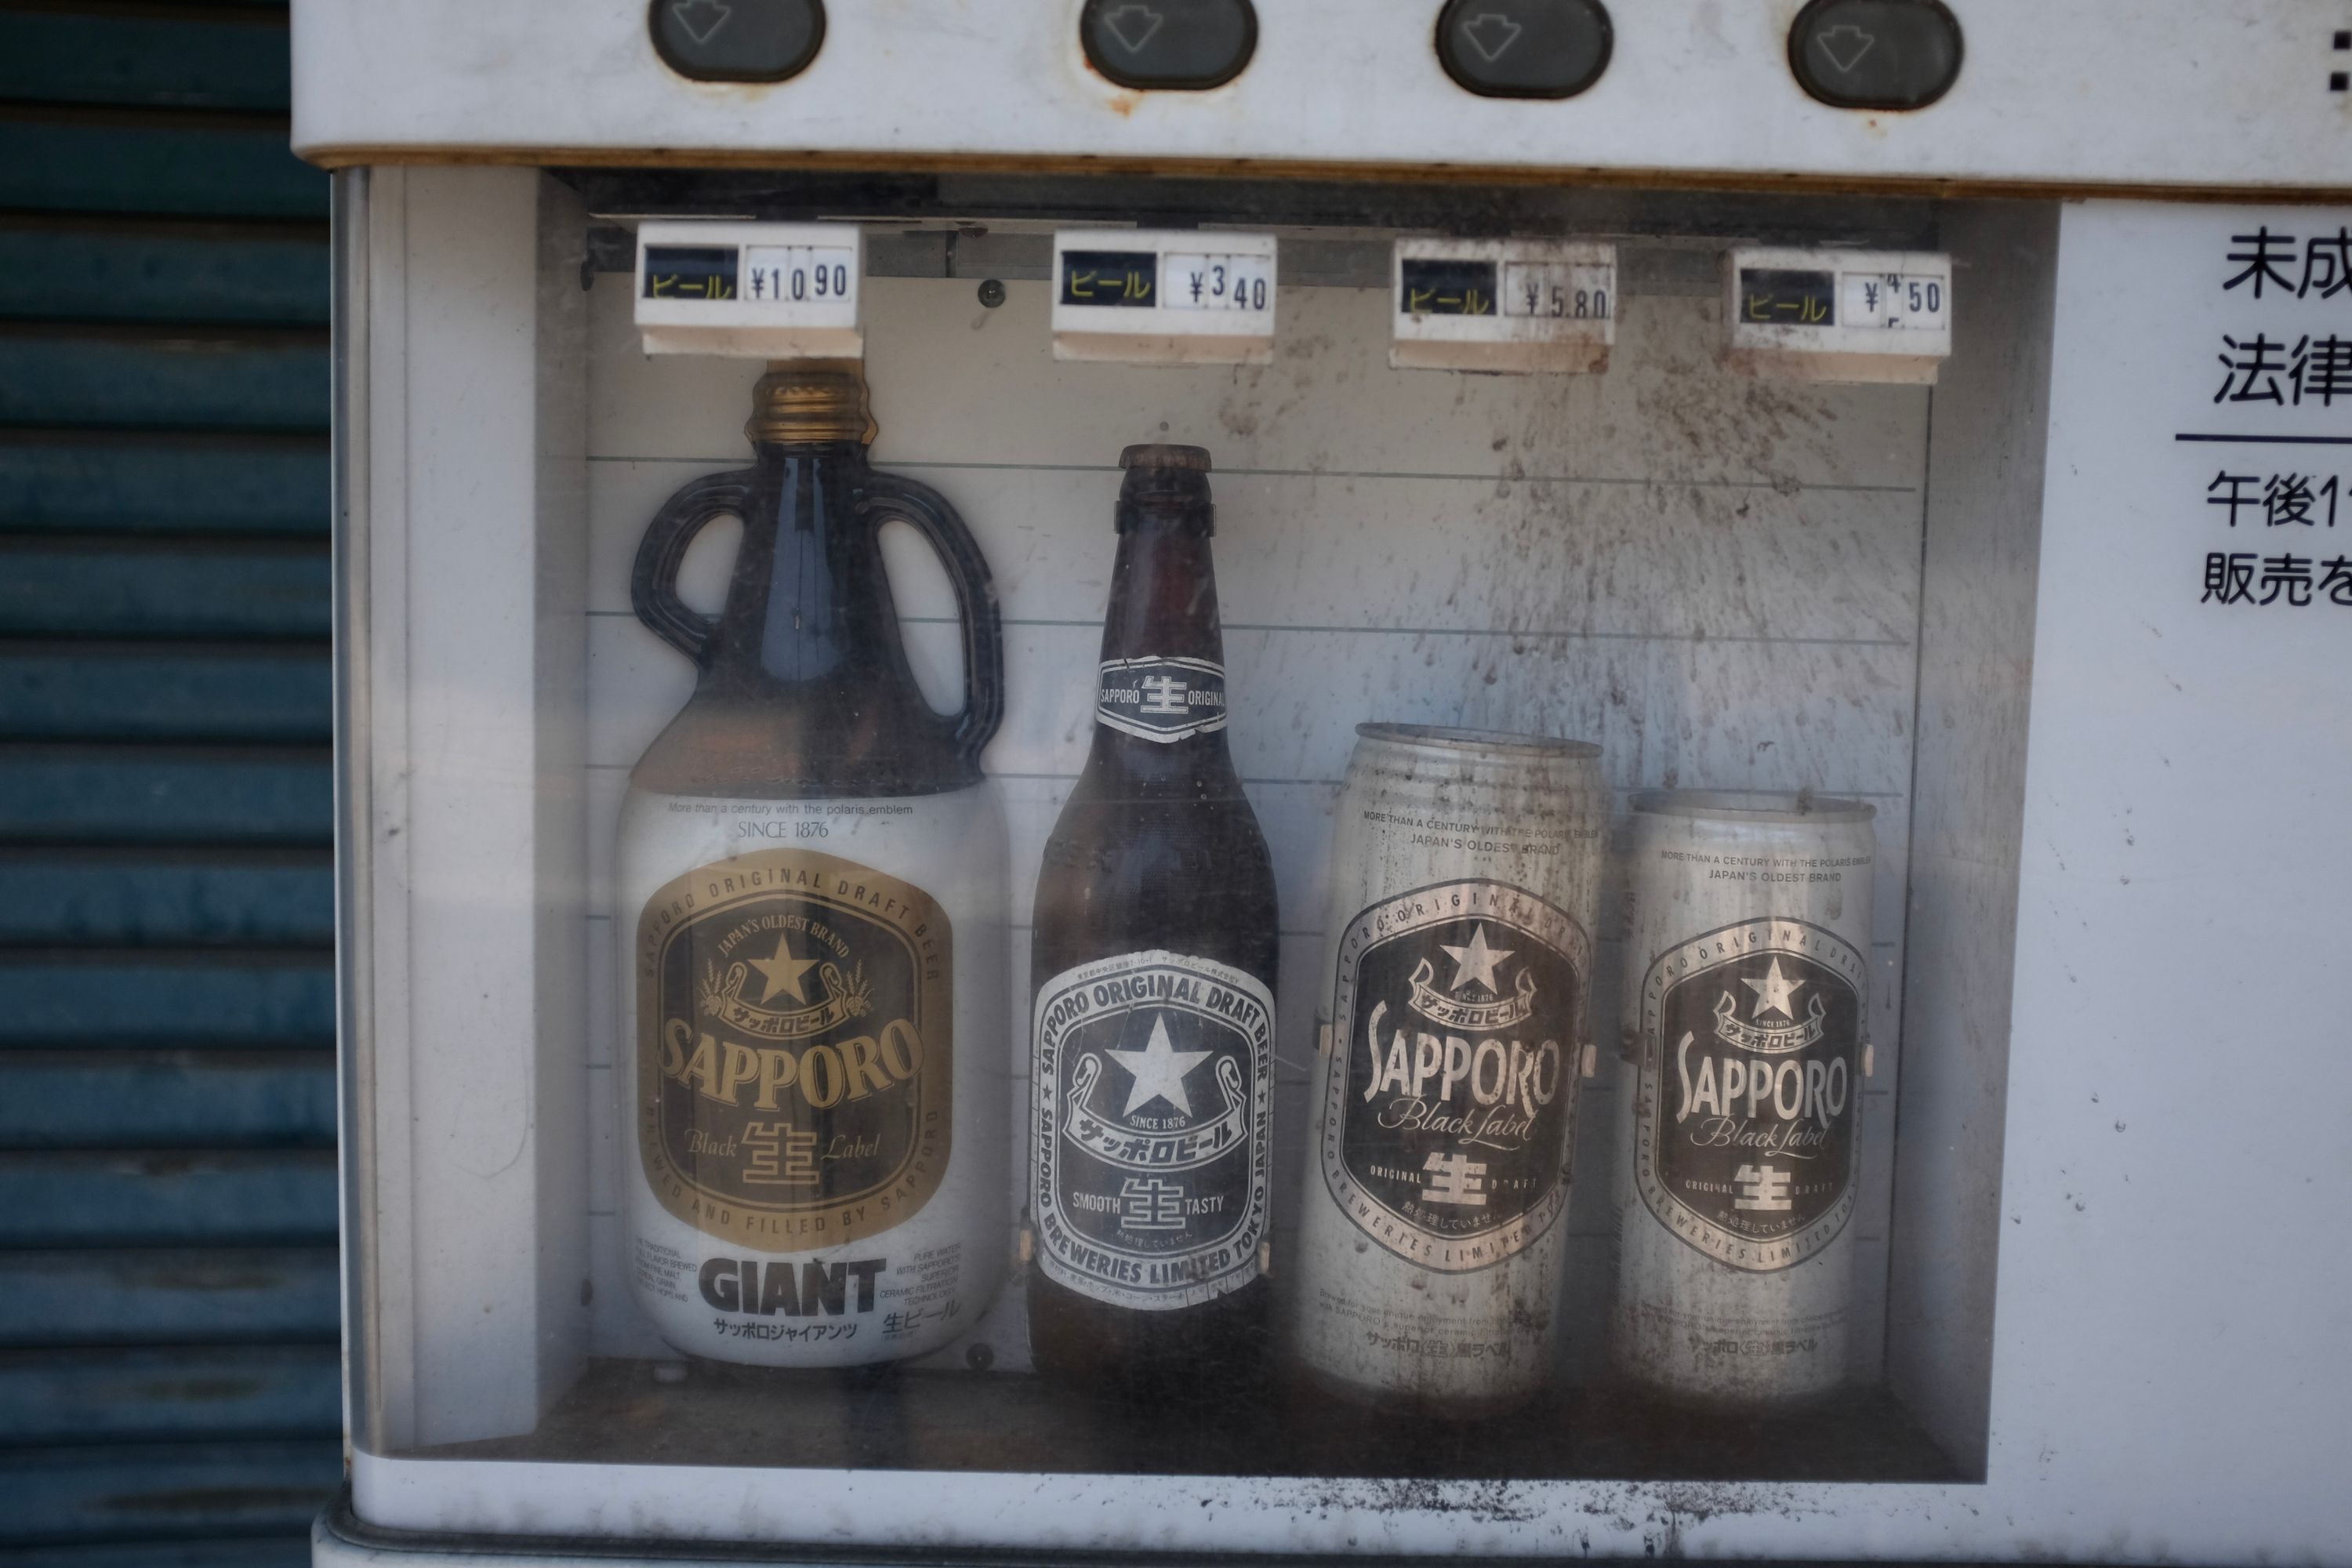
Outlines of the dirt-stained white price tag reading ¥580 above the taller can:
<svg viewBox="0 0 2352 1568">
<path fill-rule="evenodd" d="M 1397 369 L 1609 369 L 1613 244 L 1397 240 L 1390 282 Z"/>
</svg>

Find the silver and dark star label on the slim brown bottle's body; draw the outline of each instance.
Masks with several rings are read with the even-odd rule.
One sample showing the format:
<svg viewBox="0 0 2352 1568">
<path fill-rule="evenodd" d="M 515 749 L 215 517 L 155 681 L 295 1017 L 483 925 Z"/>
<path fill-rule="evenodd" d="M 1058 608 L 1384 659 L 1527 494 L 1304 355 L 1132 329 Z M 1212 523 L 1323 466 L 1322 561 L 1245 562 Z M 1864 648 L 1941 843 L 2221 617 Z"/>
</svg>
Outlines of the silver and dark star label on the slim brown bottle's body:
<svg viewBox="0 0 2352 1568">
<path fill-rule="evenodd" d="M 1037 1262 L 1080 1295 L 1171 1312 L 1258 1276 L 1272 1182 L 1275 999 L 1178 952 L 1037 992 Z"/>
</svg>

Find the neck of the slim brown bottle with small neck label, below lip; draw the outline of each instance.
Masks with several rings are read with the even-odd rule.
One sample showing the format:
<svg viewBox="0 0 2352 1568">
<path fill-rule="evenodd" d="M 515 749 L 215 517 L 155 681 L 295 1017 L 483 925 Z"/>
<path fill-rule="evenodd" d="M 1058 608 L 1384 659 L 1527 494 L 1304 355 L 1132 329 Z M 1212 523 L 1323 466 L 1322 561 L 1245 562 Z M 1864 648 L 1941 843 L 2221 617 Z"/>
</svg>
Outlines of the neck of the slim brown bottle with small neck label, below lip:
<svg viewBox="0 0 2352 1568">
<path fill-rule="evenodd" d="M 1209 510 L 1122 508 L 1120 524 L 1094 755 L 1143 773 L 1230 771 Z"/>
</svg>

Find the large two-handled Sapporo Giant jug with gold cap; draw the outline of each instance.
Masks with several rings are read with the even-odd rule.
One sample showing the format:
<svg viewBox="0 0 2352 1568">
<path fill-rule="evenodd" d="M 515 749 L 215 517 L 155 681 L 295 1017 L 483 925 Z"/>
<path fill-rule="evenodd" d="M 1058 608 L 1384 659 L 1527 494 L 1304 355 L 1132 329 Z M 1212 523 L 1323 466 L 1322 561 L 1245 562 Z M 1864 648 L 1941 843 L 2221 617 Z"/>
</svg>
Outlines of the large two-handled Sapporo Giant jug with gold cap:
<svg viewBox="0 0 2352 1568">
<path fill-rule="evenodd" d="M 757 461 L 677 491 L 633 581 L 699 677 L 621 809 L 623 1267 L 682 1352 L 856 1366 L 969 1328 L 1009 1255 L 1002 635 L 955 510 L 868 468 L 856 364 L 776 367 L 746 433 Z M 677 567 L 722 515 L 710 621 Z M 962 712 L 908 668 L 894 520 L 955 583 Z"/>
</svg>

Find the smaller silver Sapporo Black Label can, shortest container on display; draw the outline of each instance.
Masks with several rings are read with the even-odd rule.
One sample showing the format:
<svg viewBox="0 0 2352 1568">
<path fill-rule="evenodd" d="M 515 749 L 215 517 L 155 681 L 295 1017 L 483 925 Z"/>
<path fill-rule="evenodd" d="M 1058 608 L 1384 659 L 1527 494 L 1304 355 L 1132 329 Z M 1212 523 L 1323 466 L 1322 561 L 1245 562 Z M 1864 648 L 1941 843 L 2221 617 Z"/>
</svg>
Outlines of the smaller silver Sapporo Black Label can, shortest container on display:
<svg viewBox="0 0 2352 1568">
<path fill-rule="evenodd" d="M 1773 1406 L 1846 1380 L 1875 809 L 1632 802 L 1611 1366 Z"/>
</svg>

